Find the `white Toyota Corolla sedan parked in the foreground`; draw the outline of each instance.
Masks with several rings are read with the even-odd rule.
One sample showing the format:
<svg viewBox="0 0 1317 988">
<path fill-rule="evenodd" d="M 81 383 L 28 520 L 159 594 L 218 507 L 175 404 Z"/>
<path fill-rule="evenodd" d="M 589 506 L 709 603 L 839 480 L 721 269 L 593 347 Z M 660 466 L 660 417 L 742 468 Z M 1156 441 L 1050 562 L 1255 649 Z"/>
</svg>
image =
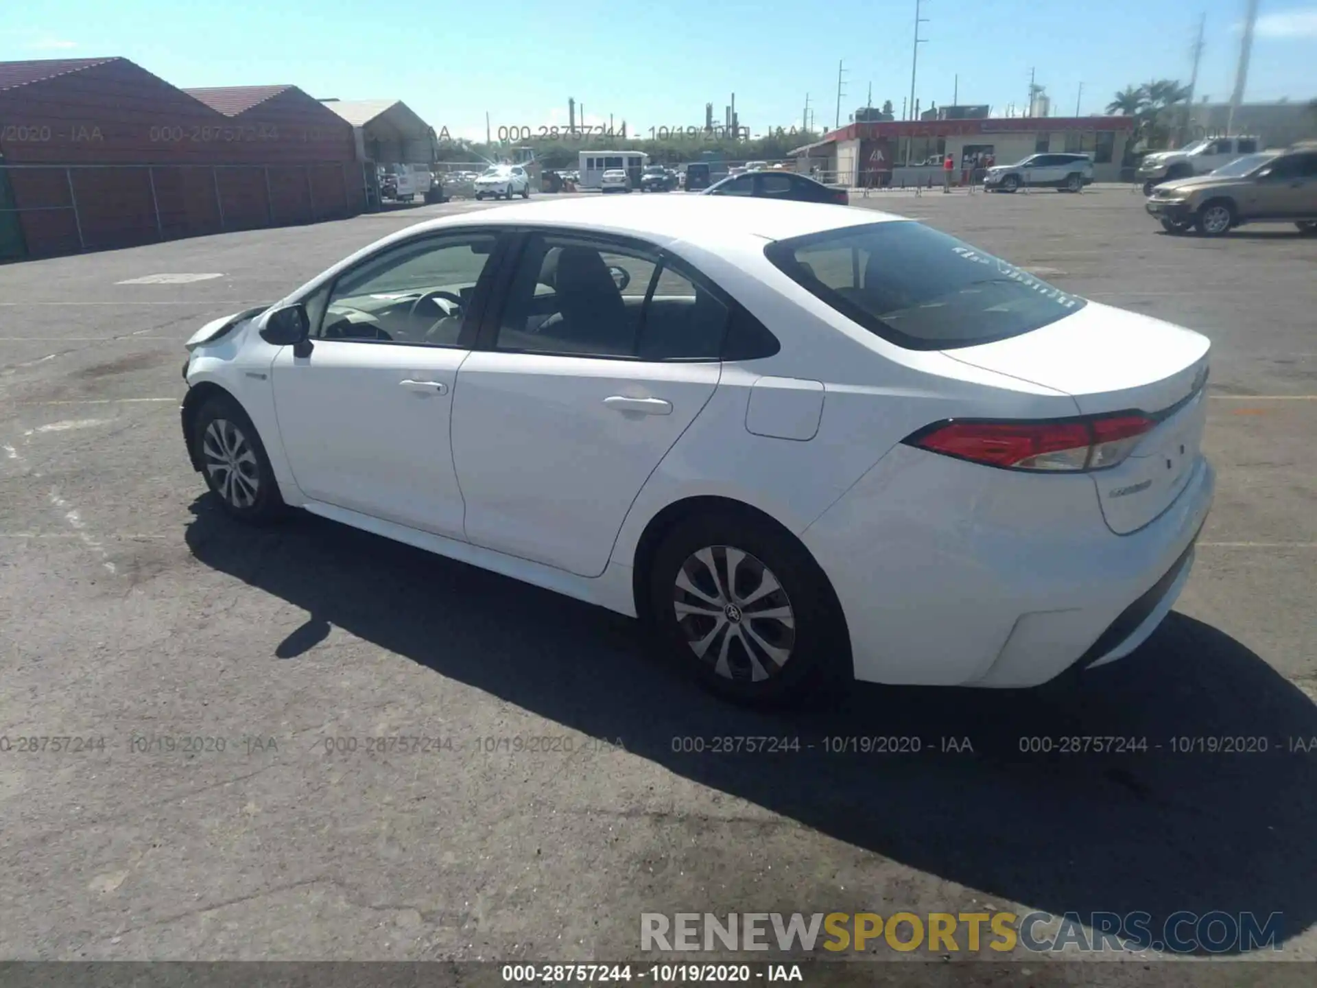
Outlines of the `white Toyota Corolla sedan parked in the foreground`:
<svg viewBox="0 0 1317 988">
<path fill-rule="evenodd" d="M 1208 348 L 871 209 L 577 199 L 207 324 L 182 419 L 234 518 L 637 617 L 734 700 L 1033 686 L 1131 652 L 1188 577 Z"/>
</svg>

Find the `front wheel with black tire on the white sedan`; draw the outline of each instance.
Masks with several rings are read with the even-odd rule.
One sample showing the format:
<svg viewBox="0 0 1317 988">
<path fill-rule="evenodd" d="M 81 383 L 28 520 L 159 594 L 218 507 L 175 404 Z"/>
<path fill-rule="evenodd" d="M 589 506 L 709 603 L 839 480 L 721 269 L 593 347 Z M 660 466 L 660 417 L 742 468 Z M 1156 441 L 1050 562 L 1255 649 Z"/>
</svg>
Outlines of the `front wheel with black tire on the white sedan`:
<svg viewBox="0 0 1317 988">
<path fill-rule="evenodd" d="M 286 512 L 261 436 L 236 400 L 227 395 L 205 400 L 196 412 L 192 448 L 205 486 L 230 518 L 267 524 Z M 237 464 L 237 477 L 230 462 Z"/>
</svg>

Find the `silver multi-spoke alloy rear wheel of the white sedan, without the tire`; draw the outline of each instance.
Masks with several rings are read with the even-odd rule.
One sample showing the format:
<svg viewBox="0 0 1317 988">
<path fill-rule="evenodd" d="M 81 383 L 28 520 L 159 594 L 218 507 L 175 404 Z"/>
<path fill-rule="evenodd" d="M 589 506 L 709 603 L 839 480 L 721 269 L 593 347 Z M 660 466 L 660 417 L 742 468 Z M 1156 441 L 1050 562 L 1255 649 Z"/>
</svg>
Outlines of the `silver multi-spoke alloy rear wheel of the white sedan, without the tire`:
<svg viewBox="0 0 1317 988">
<path fill-rule="evenodd" d="M 682 639 L 727 680 L 781 674 L 795 645 L 795 611 L 763 561 L 732 545 L 706 545 L 677 570 L 673 607 Z"/>
</svg>

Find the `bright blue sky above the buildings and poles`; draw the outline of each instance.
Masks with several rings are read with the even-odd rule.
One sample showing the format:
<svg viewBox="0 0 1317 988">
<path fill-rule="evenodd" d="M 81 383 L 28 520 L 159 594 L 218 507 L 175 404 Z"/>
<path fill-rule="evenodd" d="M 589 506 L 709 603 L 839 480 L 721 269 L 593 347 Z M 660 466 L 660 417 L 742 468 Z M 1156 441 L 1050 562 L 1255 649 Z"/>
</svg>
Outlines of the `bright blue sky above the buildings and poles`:
<svg viewBox="0 0 1317 988">
<path fill-rule="evenodd" d="M 1198 95 L 1229 97 L 1243 0 L 925 0 L 917 95 L 1004 111 L 1027 99 L 1029 71 L 1052 113 L 1100 111 L 1150 78 L 1189 78 L 1206 14 Z M 387 12 L 387 17 L 385 16 Z M 743 125 L 842 120 L 873 86 L 900 113 L 910 91 L 914 0 L 42 0 L 13 4 L 0 61 L 124 55 L 182 86 L 292 83 L 313 96 L 396 97 L 436 129 L 566 121 L 574 96 L 591 123 L 635 129 L 715 119 L 736 94 Z M 1247 100 L 1317 96 L 1317 0 L 1262 0 Z M 1080 86 L 1083 95 L 1080 96 Z"/>
</svg>

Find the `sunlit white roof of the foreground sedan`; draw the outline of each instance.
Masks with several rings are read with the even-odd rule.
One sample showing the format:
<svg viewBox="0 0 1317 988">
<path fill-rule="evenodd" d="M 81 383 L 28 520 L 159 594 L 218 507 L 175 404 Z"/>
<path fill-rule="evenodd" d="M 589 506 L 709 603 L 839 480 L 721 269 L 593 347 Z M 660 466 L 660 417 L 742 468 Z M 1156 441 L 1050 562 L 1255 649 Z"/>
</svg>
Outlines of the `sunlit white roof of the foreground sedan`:
<svg viewBox="0 0 1317 988">
<path fill-rule="evenodd" d="M 905 220 L 905 216 L 822 203 L 797 203 L 735 196 L 585 196 L 525 203 L 471 213 L 443 216 L 410 228 L 411 233 L 446 227 L 574 227 L 620 233 L 645 240 L 691 240 L 728 236 L 788 240 L 809 233 L 871 223 Z"/>
</svg>

